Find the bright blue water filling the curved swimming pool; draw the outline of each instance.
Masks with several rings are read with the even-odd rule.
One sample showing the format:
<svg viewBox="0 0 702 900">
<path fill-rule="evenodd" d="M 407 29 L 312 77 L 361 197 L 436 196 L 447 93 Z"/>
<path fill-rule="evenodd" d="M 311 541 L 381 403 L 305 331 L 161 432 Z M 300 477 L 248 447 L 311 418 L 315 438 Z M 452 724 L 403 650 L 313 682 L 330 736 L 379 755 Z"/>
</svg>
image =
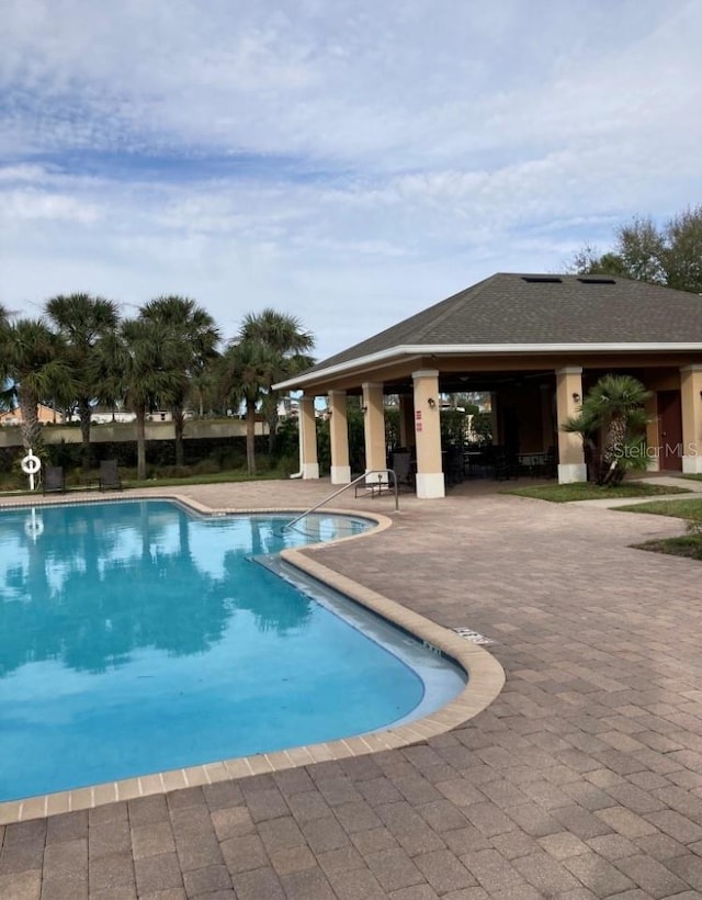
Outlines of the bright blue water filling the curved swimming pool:
<svg viewBox="0 0 702 900">
<path fill-rule="evenodd" d="M 308 516 L 282 532 L 288 520 L 168 502 L 0 514 L 0 800 L 358 734 L 421 708 L 445 670 L 432 654 L 420 677 L 416 641 L 377 619 L 361 630 L 354 605 L 256 561 L 367 522 Z M 455 695 L 463 676 L 449 670 Z"/>
</svg>

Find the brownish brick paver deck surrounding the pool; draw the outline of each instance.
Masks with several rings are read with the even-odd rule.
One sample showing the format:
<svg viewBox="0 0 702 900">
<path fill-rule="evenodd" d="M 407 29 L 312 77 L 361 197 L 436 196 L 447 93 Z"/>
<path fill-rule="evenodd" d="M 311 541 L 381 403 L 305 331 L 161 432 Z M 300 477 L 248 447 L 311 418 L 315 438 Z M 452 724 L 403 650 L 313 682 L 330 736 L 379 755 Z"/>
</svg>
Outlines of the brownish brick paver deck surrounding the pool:
<svg viewBox="0 0 702 900">
<path fill-rule="evenodd" d="M 317 559 L 491 638 L 498 699 L 404 750 L 0 828 L 2 900 L 702 897 L 702 569 L 629 548 L 681 525 L 474 485 L 364 503 L 393 528 Z"/>
</svg>

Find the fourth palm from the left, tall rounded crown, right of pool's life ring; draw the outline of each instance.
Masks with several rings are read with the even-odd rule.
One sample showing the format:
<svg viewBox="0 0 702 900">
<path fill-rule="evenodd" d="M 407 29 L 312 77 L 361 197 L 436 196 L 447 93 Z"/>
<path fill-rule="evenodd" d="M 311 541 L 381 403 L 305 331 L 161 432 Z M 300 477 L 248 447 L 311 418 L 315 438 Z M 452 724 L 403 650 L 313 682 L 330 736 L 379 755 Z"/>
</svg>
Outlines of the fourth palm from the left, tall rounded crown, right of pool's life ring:
<svg viewBox="0 0 702 900">
<path fill-rule="evenodd" d="M 139 318 L 159 325 L 173 340 L 172 375 L 179 380 L 171 396 L 171 413 L 176 429 L 176 465 L 183 465 L 183 431 L 185 401 L 195 376 L 217 356 L 219 329 L 213 317 L 194 300 L 160 296 L 141 307 Z"/>
</svg>

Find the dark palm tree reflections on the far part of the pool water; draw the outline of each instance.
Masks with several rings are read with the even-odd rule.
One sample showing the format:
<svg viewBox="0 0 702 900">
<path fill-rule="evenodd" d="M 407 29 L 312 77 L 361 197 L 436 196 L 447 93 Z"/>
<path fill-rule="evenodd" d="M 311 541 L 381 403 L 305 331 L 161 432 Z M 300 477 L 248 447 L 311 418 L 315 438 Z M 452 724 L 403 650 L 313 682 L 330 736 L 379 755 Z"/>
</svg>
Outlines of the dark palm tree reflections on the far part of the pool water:
<svg viewBox="0 0 702 900">
<path fill-rule="evenodd" d="M 271 598 L 270 573 L 247 577 L 246 556 L 282 547 L 270 517 L 127 502 L 45 507 L 27 521 L 29 510 L 0 516 L 0 677 L 46 660 L 100 673 L 137 649 L 204 653 L 237 611 L 283 635 L 309 618 L 306 597 Z"/>
</svg>

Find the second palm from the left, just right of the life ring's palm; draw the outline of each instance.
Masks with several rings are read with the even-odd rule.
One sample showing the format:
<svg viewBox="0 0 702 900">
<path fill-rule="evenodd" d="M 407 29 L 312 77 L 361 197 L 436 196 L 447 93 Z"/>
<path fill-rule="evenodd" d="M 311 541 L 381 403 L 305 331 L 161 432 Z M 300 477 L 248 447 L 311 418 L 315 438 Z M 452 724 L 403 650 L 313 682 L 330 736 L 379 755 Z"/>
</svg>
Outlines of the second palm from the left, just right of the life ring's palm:
<svg viewBox="0 0 702 900">
<path fill-rule="evenodd" d="M 117 304 L 90 294 L 59 294 L 46 302 L 46 313 L 66 344 L 66 358 L 73 375 L 75 401 L 80 416 L 82 465 L 88 471 L 91 405 L 99 393 L 95 389 L 99 344 L 117 327 Z"/>
</svg>

